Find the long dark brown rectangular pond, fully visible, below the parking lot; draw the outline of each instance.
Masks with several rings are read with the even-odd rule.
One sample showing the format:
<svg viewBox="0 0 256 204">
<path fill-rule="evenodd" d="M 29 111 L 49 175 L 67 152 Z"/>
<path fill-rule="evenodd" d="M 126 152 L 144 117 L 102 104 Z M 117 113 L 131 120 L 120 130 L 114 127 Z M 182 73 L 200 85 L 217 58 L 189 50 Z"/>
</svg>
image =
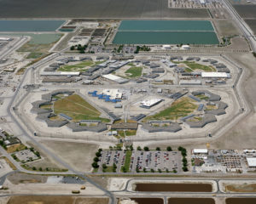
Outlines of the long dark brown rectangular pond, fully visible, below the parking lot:
<svg viewBox="0 0 256 204">
<path fill-rule="evenodd" d="M 136 184 L 136 191 L 148 192 L 212 192 L 212 184 Z"/>
</svg>

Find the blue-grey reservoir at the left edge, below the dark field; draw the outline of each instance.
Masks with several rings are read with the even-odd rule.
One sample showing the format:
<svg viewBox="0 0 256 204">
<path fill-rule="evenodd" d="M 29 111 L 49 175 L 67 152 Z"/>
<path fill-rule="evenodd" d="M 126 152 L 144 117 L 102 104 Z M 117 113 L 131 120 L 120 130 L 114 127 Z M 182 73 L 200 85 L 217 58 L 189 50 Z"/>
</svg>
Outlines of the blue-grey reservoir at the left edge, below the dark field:
<svg viewBox="0 0 256 204">
<path fill-rule="evenodd" d="M 65 20 L 0 20 L 0 31 L 38 32 L 55 31 Z"/>
</svg>

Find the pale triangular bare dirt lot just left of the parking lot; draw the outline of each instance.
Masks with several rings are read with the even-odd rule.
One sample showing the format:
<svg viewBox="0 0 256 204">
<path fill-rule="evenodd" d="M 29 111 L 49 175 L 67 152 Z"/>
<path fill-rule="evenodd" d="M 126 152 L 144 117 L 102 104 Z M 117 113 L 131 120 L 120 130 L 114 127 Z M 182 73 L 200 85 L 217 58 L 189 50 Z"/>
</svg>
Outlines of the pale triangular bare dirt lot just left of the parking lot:
<svg viewBox="0 0 256 204">
<path fill-rule="evenodd" d="M 93 157 L 98 149 L 96 144 L 73 143 L 45 140 L 41 142 L 49 150 L 60 156 L 76 170 L 89 172 Z"/>
</svg>

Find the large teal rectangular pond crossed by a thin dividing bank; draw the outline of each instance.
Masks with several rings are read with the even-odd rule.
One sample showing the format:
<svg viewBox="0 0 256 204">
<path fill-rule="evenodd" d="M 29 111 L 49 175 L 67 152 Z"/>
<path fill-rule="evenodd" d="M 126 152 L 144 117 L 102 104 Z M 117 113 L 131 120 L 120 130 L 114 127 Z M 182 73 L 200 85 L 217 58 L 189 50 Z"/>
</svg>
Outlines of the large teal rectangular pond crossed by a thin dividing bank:
<svg viewBox="0 0 256 204">
<path fill-rule="evenodd" d="M 218 44 L 209 20 L 123 20 L 113 44 Z"/>
</svg>

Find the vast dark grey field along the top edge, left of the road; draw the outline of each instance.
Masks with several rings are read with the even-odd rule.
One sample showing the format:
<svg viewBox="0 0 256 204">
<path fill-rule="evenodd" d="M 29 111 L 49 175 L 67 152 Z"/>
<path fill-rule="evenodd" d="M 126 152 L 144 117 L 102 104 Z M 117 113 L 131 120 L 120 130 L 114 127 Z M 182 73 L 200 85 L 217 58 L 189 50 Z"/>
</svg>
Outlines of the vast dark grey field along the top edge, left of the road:
<svg viewBox="0 0 256 204">
<path fill-rule="evenodd" d="M 168 8 L 168 0 L 0 1 L 0 18 L 209 18 L 204 8 Z"/>
</svg>

